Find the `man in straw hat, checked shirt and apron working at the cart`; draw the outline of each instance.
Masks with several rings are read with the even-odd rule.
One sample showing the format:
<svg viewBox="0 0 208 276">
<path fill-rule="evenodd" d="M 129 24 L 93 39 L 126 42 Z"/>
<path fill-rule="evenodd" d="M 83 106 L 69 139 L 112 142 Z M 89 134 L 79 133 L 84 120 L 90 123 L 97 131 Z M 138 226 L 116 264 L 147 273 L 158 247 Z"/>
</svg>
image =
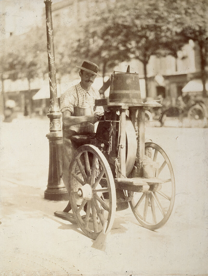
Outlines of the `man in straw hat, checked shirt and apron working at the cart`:
<svg viewBox="0 0 208 276">
<path fill-rule="evenodd" d="M 94 100 L 100 99 L 100 94 L 91 85 L 98 75 L 98 65 L 84 61 L 79 84 L 72 86 L 60 97 L 60 110 L 63 122 L 63 181 L 68 190 L 69 164 L 73 154 L 73 143 L 70 138 L 75 134 L 94 133 L 94 123 L 104 112 L 103 107 L 95 107 Z"/>
</svg>

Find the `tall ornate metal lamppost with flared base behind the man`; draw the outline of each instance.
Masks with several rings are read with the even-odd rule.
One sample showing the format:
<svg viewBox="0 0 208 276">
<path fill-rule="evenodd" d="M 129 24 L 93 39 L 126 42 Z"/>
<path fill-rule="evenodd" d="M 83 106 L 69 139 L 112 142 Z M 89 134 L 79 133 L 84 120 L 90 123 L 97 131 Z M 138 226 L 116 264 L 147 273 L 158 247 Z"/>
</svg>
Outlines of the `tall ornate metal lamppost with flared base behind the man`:
<svg viewBox="0 0 208 276">
<path fill-rule="evenodd" d="M 56 68 L 54 58 L 53 27 L 51 16 L 51 0 L 44 1 L 46 5 L 47 51 L 50 85 L 50 108 L 47 114 L 50 119 L 50 132 L 46 135 L 49 140 L 49 172 L 48 185 L 44 198 L 50 200 L 69 200 L 69 194 L 62 180 L 62 129 L 61 112 L 57 98 Z"/>
</svg>

